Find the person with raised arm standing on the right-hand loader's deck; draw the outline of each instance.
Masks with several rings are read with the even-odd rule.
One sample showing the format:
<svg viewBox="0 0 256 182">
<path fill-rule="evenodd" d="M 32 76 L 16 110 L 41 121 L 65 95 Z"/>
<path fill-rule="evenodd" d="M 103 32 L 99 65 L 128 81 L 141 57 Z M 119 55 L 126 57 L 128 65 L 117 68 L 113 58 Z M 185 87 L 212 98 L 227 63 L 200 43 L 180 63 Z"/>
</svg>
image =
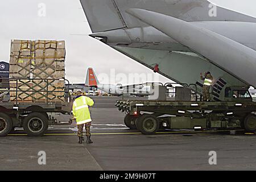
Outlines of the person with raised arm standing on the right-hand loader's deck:
<svg viewBox="0 0 256 182">
<path fill-rule="evenodd" d="M 201 73 L 201 80 L 204 80 L 203 101 L 210 101 L 210 86 L 212 85 L 213 77 L 210 72 L 204 73 L 204 77 Z"/>
</svg>

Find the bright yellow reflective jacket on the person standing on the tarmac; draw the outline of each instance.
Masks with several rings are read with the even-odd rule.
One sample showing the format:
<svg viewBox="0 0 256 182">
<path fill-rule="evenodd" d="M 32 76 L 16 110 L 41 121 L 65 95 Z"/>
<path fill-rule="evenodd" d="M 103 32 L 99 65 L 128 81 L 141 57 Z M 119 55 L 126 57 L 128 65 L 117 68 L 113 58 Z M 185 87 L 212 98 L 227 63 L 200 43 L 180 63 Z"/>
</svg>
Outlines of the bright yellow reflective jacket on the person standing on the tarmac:
<svg viewBox="0 0 256 182">
<path fill-rule="evenodd" d="M 91 98 L 80 96 L 73 102 L 73 115 L 76 118 L 77 125 L 91 122 L 88 106 L 93 106 L 94 102 Z"/>
</svg>

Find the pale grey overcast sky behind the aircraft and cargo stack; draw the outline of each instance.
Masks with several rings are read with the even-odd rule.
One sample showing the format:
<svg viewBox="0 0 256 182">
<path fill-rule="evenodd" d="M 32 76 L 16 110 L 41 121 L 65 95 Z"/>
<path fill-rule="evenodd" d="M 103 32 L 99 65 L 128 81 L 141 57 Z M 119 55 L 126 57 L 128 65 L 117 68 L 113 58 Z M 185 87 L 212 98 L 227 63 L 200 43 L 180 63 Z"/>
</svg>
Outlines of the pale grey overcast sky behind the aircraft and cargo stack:
<svg viewBox="0 0 256 182">
<path fill-rule="evenodd" d="M 211 0 L 211 2 L 256 17 L 255 0 Z M 38 16 L 40 3 L 46 4 L 45 17 Z M 11 39 L 65 40 L 66 75 L 74 83 L 85 81 L 88 67 L 93 67 L 97 74 L 107 75 L 110 75 L 110 69 L 115 69 L 115 73 L 125 73 L 127 76 L 128 73 L 152 73 L 150 69 L 89 36 L 71 35 L 90 34 L 79 0 L 2 1 L 0 25 L 0 60 L 9 61 Z M 169 81 L 162 76 L 159 76 L 159 80 Z M 153 80 L 148 77 L 147 80 L 140 80 L 142 81 Z M 114 80 L 110 82 L 114 83 Z M 122 84 L 132 82 L 133 80 L 127 80 Z"/>
</svg>

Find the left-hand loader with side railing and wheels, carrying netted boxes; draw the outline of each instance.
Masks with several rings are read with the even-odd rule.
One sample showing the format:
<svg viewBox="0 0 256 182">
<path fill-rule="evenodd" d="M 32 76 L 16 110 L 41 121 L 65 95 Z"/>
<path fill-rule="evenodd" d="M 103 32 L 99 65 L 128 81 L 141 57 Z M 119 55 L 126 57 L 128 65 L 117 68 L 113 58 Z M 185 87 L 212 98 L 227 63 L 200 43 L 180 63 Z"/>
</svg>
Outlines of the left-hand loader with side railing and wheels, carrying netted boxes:
<svg viewBox="0 0 256 182">
<path fill-rule="evenodd" d="M 61 88 L 53 88 L 48 82 L 68 80 L 53 80 L 53 79 L 15 79 L 9 80 L 16 82 L 13 89 L 10 89 L 9 101 L 0 102 L 0 137 L 6 136 L 14 127 L 23 127 L 24 131 L 33 137 L 39 137 L 46 133 L 48 125 L 71 125 L 72 100 L 69 95 L 69 88 L 64 86 Z M 18 86 L 26 80 L 27 88 Z M 47 83 L 45 86 L 34 86 L 35 82 Z M 33 86 L 31 86 L 33 85 Z M 69 84 L 68 84 L 69 85 Z M 6 92 L 6 90 L 5 90 Z M 24 94 L 30 100 L 23 100 Z M 38 100 L 38 96 L 40 99 Z M 69 121 L 58 123 L 53 117 L 54 114 L 61 113 L 70 115 Z"/>
</svg>

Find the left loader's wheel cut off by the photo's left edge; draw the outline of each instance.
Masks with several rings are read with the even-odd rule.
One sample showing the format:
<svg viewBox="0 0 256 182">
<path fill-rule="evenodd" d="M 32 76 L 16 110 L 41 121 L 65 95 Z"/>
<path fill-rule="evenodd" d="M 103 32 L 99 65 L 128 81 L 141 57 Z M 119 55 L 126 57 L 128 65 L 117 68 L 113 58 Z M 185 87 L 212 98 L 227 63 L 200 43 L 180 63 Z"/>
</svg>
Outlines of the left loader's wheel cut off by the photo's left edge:
<svg viewBox="0 0 256 182">
<path fill-rule="evenodd" d="M 5 113 L 0 113 L 0 137 L 5 137 L 13 129 L 13 121 L 9 115 Z"/>
</svg>

